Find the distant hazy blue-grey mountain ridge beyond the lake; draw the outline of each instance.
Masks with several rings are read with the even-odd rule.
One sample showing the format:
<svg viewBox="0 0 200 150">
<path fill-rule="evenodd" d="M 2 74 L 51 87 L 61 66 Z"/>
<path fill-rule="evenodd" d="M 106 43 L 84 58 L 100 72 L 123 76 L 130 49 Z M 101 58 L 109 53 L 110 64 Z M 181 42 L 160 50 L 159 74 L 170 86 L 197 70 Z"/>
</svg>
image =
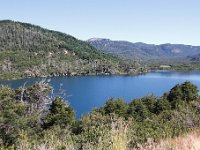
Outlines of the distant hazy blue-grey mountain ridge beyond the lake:
<svg viewBox="0 0 200 150">
<path fill-rule="evenodd" d="M 145 44 L 127 41 L 112 41 L 109 39 L 92 38 L 87 42 L 98 50 L 114 54 L 126 59 L 138 60 L 168 60 L 185 59 L 188 56 L 200 54 L 200 46 L 183 44 Z"/>
</svg>

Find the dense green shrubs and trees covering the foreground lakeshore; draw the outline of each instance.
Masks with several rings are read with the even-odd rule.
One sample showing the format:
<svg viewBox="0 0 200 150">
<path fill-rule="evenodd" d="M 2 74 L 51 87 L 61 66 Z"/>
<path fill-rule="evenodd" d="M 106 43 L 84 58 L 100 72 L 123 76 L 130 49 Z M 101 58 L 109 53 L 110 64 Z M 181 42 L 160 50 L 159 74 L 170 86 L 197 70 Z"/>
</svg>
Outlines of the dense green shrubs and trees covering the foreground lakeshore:
<svg viewBox="0 0 200 150">
<path fill-rule="evenodd" d="M 110 99 L 77 120 L 48 84 L 0 88 L 2 149 L 140 149 L 149 139 L 176 137 L 200 126 L 200 98 L 191 82 L 126 103 Z"/>
</svg>

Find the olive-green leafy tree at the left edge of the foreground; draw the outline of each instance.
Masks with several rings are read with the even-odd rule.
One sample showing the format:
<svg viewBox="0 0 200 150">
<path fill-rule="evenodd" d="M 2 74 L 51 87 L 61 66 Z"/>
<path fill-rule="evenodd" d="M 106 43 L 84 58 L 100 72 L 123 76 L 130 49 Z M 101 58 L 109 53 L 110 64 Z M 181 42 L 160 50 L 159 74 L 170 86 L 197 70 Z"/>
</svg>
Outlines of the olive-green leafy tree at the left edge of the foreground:
<svg viewBox="0 0 200 150">
<path fill-rule="evenodd" d="M 16 91 L 0 87 L 0 147 L 16 145 L 22 130 L 38 134 L 39 115 L 27 115 L 29 104 L 16 98 Z"/>
</svg>

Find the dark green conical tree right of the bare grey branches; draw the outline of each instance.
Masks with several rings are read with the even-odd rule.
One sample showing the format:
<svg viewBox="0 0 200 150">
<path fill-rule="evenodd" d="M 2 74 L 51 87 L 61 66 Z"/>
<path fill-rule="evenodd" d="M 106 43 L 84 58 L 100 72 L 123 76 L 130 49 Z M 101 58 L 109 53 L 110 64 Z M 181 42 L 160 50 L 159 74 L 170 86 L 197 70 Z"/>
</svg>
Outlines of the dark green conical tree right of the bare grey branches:
<svg viewBox="0 0 200 150">
<path fill-rule="evenodd" d="M 49 112 L 44 119 L 44 128 L 50 128 L 54 125 L 64 128 L 67 125 L 72 125 L 74 121 L 74 110 L 60 97 L 57 97 L 52 101 Z"/>
</svg>

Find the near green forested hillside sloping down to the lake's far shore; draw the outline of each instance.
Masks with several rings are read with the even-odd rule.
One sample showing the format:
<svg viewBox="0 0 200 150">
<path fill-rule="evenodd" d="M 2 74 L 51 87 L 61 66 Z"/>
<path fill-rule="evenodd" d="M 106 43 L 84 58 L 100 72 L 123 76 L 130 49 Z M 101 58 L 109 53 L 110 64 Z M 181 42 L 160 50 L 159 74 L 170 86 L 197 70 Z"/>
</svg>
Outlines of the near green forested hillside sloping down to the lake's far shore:
<svg viewBox="0 0 200 150">
<path fill-rule="evenodd" d="M 141 71 L 136 63 L 124 66 L 127 64 L 121 59 L 70 35 L 28 23 L 0 21 L 0 79 Z"/>
</svg>

